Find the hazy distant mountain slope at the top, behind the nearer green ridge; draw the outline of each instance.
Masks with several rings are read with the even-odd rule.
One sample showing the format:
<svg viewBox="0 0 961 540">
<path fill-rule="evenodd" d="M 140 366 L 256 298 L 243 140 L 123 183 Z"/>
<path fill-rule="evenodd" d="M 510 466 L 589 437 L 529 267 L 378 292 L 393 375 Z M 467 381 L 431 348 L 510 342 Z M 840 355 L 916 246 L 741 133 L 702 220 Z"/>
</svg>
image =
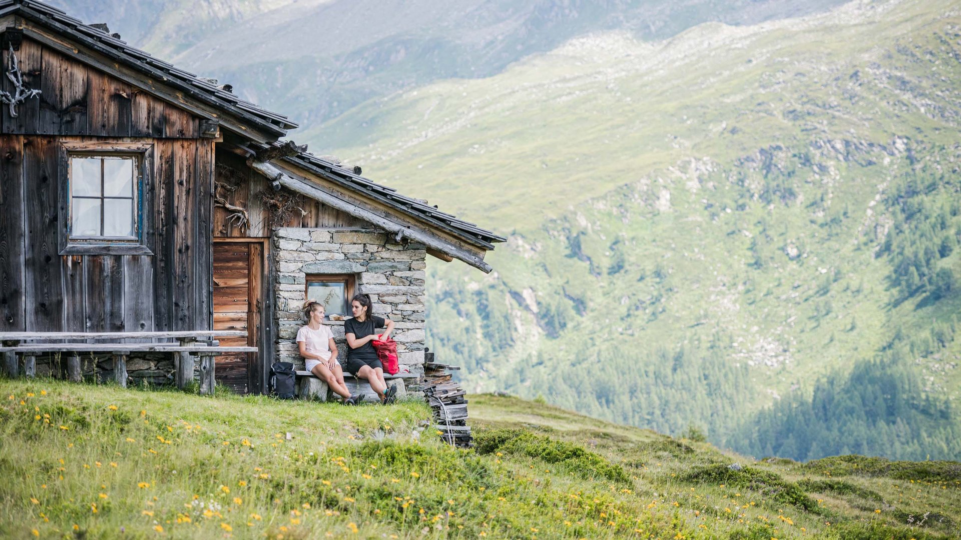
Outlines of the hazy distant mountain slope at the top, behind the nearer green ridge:
<svg viewBox="0 0 961 540">
<path fill-rule="evenodd" d="M 234 85 L 302 125 L 450 78 L 487 77 L 598 31 L 670 37 L 704 21 L 752 24 L 840 0 L 57 0 L 164 60 Z M 171 58 L 172 57 L 172 58 Z"/>
</svg>

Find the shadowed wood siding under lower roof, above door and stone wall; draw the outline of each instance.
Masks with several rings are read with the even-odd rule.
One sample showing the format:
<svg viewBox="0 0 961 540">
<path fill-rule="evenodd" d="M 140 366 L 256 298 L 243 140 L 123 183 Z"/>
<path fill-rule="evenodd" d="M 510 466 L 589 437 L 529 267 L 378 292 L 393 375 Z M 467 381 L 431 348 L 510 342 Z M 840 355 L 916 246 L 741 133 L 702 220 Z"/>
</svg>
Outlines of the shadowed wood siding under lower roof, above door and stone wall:
<svg viewBox="0 0 961 540">
<path fill-rule="evenodd" d="M 214 179 L 221 187 L 217 195 L 222 197 L 228 204 L 242 209 L 247 209 L 250 216 L 250 225 L 244 229 L 238 227 L 234 222 L 228 221 L 232 213 L 223 207 L 213 209 L 213 234 L 222 237 L 258 237 L 266 238 L 270 232 L 270 209 L 263 203 L 261 192 L 266 189 L 268 194 L 273 194 L 270 183 L 258 172 L 250 169 L 246 162 L 240 157 L 229 152 L 217 154 L 216 170 Z M 231 188 L 234 188 L 233 190 Z M 307 213 L 300 215 L 296 211 L 285 223 L 277 227 L 307 227 L 325 229 L 358 229 L 369 227 L 364 221 L 356 217 L 332 209 L 323 203 L 309 199 L 298 194 L 296 206 L 304 209 Z"/>
</svg>

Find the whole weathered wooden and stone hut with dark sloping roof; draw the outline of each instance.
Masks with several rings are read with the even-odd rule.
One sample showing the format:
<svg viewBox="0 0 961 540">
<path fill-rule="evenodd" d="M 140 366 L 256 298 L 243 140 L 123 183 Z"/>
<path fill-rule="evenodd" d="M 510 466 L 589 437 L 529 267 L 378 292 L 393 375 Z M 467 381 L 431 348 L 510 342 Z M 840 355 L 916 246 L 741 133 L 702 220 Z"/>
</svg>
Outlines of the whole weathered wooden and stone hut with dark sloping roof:
<svg viewBox="0 0 961 540">
<path fill-rule="evenodd" d="M 207 331 L 221 337 L 216 380 L 261 393 L 273 361 L 303 365 L 293 337 L 305 299 L 349 315 L 359 291 L 397 322 L 402 366 L 416 373 L 425 259 L 489 272 L 484 255 L 504 241 L 280 141 L 297 127 L 285 116 L 107 25 L 4 0 L 0 37 L 0 334 L 17 337 L 5 344 L 16 353 L 8 371 L 56 375 L 66 354 L 87 377 L 163 383 L 184 369 L 166 354 L 175 347 L 117 344 L 121 376 L 104 356 L 111 345 L 44 349 L 39 338 L 155 332 L 139 336 L 157 345 L 160 333 Z"/>
</svg>

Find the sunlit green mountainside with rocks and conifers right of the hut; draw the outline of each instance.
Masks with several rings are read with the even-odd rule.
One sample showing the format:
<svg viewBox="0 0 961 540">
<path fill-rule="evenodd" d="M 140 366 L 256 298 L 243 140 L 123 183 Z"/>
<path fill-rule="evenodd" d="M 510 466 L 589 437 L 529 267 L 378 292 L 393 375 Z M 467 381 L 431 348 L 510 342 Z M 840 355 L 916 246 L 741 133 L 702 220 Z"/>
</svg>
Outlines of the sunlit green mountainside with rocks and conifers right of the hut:
<svg viewBox="0 0 961 540">
<path fill-rule="evenodd" d="M 430 268 L 431 349 L 476 391 L 958 458 L 959 7 L 583 37 L 297 138 L 509 235 L 494 274 Z"/>
</svg>

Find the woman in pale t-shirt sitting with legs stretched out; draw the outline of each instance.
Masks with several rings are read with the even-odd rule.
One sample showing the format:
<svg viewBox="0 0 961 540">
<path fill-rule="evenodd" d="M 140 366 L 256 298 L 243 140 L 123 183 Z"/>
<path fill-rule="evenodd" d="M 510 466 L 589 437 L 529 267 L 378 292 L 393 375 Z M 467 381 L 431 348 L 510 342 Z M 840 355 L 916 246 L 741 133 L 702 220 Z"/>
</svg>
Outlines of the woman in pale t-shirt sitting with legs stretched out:
<svg viewBox="0 0 961 540">
<path fill-rule="evenodd" d="M 333 392 L 344 399 L 345 405 L 357 405 L 351 391 L 344 384 L 344 371 L 337 362 L 337 345 L 333 332 L 323 324 L 324 305 L 312 300 L 304 307 L 307 324 L 297 331 L 297 345 L 304 356 L 307 370 L 317 379 L 327 382 Z"/>
</svg>

